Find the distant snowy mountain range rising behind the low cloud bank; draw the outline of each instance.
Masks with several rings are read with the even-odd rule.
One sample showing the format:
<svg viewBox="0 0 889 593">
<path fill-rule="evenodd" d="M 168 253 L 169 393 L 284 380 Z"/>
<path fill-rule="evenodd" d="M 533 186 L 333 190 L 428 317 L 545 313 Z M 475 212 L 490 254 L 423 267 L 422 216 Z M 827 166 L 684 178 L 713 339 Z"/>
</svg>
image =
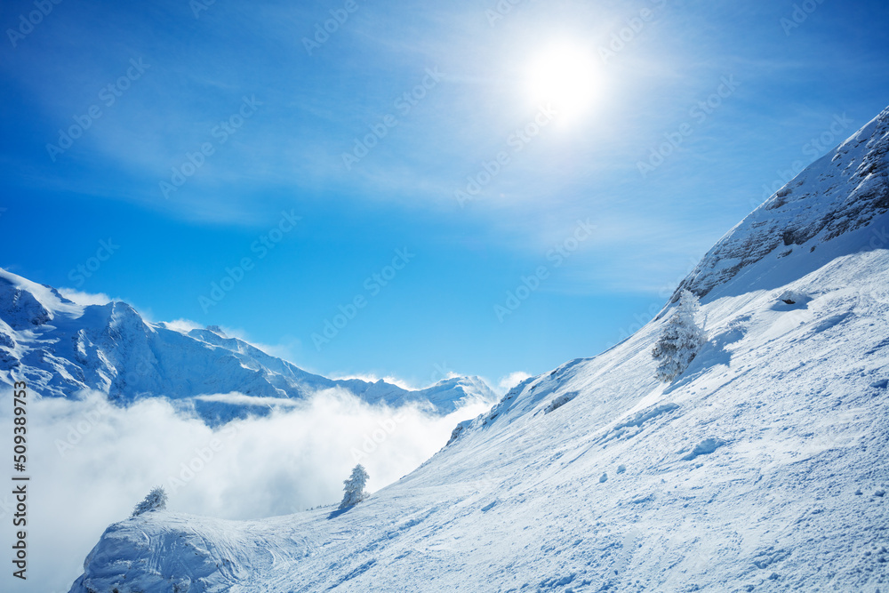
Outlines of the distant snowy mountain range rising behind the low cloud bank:
<svg viewBox="0 0 889 593">
<path fill-rule="evenodd" d="M 81 389 L 118 403 L 169 397 L 212 423 L 268 412 L 274 400 L 343 388 L 377 404 L 415 402 L 441 414 L 496 396 L 477 377 L 451 377 L 428 389 L 386 381 L 332 380 L 307 373 L 218 327 L 177 329 L 148 323 L 121 301 L 81 306 L 56 289 L 0 269 L 0 381 L 12 373 L 44 396 Z M 209 397 L 238 393 L 252 398 Z"/>
</svg>

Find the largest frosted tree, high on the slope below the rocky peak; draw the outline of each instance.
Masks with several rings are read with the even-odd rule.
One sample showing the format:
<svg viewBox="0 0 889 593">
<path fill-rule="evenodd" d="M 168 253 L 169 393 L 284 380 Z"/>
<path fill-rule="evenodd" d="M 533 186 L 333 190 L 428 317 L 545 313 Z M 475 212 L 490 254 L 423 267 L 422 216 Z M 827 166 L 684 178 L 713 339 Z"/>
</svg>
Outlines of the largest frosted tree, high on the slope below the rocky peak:
<svg viewBox="0 0 889 593">
<path fill-rule="evenodd" d="M 684 290 L 679 295 L 679 306 L 664 325 L 661 337 L 652 350 L 652 356 L 660 361 L 658 380 L 669 383 L 688 368 L 704 343 L 704 331 L 695 321 L 698 298 Z"/>
</svg>

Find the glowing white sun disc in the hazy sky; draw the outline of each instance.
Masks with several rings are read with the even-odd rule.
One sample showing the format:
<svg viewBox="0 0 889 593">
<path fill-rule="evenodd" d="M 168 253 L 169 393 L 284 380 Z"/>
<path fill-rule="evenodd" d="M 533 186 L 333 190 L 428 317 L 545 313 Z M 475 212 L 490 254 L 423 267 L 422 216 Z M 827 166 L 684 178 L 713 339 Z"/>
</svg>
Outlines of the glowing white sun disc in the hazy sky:
<svg viewBox="0 0 889 593">
<path fill-rule="evenodd" d="M 527 69 L 525 84 L 535 104 L 552 104 L 559 119 L 583 115 L 599 92 L 599 68 L 592 54 L 571 44 L 538 53 Z"/>
</svg>

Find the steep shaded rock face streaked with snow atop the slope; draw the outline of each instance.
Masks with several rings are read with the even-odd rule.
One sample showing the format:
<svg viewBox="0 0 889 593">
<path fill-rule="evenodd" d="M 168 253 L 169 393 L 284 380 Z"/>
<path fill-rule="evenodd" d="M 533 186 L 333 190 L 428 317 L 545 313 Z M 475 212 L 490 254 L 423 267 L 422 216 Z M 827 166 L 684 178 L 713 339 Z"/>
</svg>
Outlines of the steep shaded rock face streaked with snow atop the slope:
<svg viewBox="0 0 889 593">
<path fill-rule="evenodd" d="M 887 211 L 889 108 L 730 230 L 679 285 L 672 301 L 684 288 L 705 296 L 767 256 L 829 250 L 831 241 Z M 880 244 L 886 241 L 877 238 Z"/>
</svg>

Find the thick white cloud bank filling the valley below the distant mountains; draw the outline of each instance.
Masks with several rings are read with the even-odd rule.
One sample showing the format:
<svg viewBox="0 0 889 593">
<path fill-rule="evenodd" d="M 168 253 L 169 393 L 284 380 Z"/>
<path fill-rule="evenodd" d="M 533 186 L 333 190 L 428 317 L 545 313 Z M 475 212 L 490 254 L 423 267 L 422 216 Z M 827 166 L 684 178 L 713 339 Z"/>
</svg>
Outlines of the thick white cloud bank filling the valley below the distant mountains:
<svg viewBox="0 0 889 593">
<path fill-rule="evenodd" d="M 129 517 L 155 485 L 167 488 L 168 509 L 212 517 L 334 504 L 357 462 L 377 490 L 436 453 L 458 421 L 487 409 L 468 405 L 441 418 L 331 389 L 291 409 L 211 429 L 158 398 L 118 408 L 90 394 L 35 398 L 29 406 L 28 590 L 35 591 L 67 591 L 102 531 Z M 11 421 L 9 412 L 0 409 L 0 424 Z M 11 495 L 0 493 L 0 521 L 9 520 L 11 504 Z M 12 530 L 3 530 L 0 546 L 10 549 L 11 538 Z M 0 575 L 0 589 L 15 589 L 11 572 Z"/>
</svg>

